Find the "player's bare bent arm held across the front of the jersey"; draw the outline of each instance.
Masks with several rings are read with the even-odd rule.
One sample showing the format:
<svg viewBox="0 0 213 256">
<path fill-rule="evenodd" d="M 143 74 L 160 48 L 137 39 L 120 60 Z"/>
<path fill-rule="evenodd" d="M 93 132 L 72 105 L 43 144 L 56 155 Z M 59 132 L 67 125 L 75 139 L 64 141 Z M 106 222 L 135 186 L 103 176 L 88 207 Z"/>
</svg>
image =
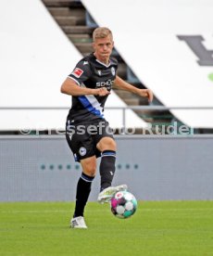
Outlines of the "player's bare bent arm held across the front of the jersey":
<svg viewBox="0 0 213 256">
<path fill-rule="evenodd" d="M 74 80 L 67 78 L 64 83 L 62 83 L 60 91 L 62 94 L 69 96 L 85 96 L 85 95 L 94 95 L 94 96 L 107 96 L 109 92 L 107 88 L 102 87 L 98 89 L 91 89 L 79 86 Z"/>
</svg>

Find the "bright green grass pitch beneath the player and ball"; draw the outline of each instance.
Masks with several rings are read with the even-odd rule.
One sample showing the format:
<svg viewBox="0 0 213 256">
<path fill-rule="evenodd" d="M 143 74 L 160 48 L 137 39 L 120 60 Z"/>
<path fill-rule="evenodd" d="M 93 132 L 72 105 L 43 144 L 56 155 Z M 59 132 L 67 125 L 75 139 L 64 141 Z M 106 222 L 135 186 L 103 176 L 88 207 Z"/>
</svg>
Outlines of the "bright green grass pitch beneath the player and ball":
<svg viewBox="0 0 213 256">
<path fill-rule="evenodd" d="M 120 220 L 90 202 L 87 230 L 69 228 L 74 204 L 0 203 L 0 255 L 213 255 L 213 201 L 139 202 Z"/>
</svg>

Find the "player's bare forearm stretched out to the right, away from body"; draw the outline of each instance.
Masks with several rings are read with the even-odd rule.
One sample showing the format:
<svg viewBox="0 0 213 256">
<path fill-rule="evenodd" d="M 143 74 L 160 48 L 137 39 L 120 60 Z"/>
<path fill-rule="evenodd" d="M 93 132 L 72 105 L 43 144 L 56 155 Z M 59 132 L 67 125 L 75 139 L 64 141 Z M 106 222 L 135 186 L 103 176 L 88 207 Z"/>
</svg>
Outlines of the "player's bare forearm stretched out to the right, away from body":
<svg viewBox="0 0 213 256">
<path fill-rule="evenodd" d="M 149 102 L 151 102 L 153 100 L 153 92 L 150 89 L 139 89 L 139 88 L 133 86 L 132 84 L 125 82 L 118 75 L 116 76 L 114 84 L 121 90 L 131 92 L 138 96 L 147 97 Z"/>
</svg>

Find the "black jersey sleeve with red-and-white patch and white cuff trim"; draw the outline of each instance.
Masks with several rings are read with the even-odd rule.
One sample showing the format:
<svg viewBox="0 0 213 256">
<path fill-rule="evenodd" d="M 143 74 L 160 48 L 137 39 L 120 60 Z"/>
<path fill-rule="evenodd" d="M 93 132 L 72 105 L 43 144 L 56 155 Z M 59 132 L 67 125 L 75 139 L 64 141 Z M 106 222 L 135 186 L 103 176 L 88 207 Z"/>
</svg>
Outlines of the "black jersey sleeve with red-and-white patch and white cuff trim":
<svg viewBox="0 0 213 256">
<path fill-rule="evenodd" d="M 90 78 L 91 68 L 88 61 L 81 60 L 75 69 L 69 74 L 69 78 L 73 79 L 79 85 Z"/>
</svg>

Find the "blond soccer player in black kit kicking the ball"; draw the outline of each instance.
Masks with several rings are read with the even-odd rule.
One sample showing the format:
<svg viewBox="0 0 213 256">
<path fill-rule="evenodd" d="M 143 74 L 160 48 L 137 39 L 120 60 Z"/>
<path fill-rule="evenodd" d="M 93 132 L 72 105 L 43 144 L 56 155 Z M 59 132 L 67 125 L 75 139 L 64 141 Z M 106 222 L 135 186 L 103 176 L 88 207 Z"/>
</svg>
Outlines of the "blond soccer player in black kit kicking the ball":
<svg viewBox="0 0 213 256">
<path fill-rule="evenodd" d="M 114 46 L 112 32 L 105 27 L 94 30 L 94 52 L 82 58 L 61 85 L 61 93 L 72 96 L 72 107 L 66 124 L 66 138 L 76 161 L 81 163 L 76 204 L 70 226 L 87 228 L 83 211 L 96 173 L 96 158 L 101 157 L 101 186 L 97 200 L 109 201 L 126 185 L 111 186 L 115 173 L 116 142 L 104 118 L 104 106 L 113 84 L 120 89 L 145 96 L 152 101 L 149 89 L 138 89 L 116 74 L 118 61 L 111 58 Z"/>
</svg>

